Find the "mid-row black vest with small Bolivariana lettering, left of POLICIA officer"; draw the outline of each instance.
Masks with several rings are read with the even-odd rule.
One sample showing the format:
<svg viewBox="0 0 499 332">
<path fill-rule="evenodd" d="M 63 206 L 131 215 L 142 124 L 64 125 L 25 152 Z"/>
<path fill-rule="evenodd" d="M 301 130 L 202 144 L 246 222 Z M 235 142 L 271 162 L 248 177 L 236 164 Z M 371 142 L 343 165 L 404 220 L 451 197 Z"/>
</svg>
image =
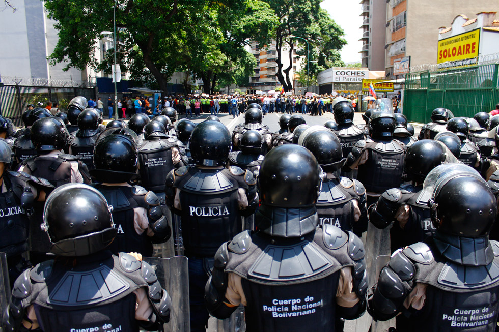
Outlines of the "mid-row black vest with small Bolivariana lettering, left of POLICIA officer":
<svg viewBox="0 0 499 332">
<path fill-rule="evenodd" d="M 164 179 L 175 168 L 172 161 L 172 147 L 176 147 L 174 139 L 145 140 L 138 150 L 141 185 L 155 193 L 164 191 Z"/>
</svg>

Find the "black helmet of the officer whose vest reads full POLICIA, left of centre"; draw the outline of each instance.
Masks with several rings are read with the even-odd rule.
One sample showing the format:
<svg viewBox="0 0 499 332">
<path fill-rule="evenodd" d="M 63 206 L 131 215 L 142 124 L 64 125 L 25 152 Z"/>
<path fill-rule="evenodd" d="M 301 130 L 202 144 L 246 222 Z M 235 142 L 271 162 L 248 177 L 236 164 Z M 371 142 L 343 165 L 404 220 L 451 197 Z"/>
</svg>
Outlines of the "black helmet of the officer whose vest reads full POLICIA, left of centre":
<svg viewBox="0 0 499 332">
<path fill-rule="evenodd" d="M 203 121 L 190 136 L 192 160 L 200 166 L 225 165 L 231 148 L 231 135 L 225 125 L 216 121 Z"/>
</svg>

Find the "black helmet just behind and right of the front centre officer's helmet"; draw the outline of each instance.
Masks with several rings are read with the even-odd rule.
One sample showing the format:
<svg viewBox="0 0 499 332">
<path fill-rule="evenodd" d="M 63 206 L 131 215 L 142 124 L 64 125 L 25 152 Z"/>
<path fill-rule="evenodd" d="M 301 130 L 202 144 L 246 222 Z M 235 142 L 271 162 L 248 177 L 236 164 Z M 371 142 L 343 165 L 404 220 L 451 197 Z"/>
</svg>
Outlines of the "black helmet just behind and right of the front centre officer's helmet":
<svg viewBox="0 0 499 332">
<path fill-rule="evenodd" d="M 329 130 L 310 133 L 304 139 L 303 146 L 315 156 L 325 172 L 334 172 L 340 169 L 346 161 L 346 158 L 343 158 L 338 137 Z"/>
</svg>

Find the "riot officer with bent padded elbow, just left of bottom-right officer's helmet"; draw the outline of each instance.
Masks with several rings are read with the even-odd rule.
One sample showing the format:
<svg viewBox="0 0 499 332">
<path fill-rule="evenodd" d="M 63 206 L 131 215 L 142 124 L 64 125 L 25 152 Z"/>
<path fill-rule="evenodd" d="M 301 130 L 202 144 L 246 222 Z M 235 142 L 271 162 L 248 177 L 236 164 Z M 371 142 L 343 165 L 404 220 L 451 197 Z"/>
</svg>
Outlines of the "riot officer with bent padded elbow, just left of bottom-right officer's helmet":
<svg viewBox="0 0 499 332">
<path fill-rule="evenodd" d="M 377 228 L 394 222 L 390 229 L 391 252 L 433 235 L 435 227 L 428 207 L 431 193 L 423 190 L 423 181 L 433 168 L 449 162 L 457 159 L 441 142 L 415 142 L 407 149 L 404 160 L 404 179 L 411 184 L 385 191 L 369 207 L 369 221 Z"/>
</svg>

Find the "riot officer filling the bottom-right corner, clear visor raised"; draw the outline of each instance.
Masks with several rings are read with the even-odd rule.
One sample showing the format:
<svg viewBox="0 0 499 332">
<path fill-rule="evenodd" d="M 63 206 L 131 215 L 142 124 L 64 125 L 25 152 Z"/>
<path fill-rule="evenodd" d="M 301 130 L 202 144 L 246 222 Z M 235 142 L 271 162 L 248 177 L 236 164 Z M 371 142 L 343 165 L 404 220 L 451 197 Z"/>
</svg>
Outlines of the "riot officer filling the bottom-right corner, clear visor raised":
<svg viewBox="0 0 499 332">
<path fill-rule="evenodd" d="M 432 180 L 430 180 L 432 179 Z M 397 317 L 404 331 L 494 331 L 499 306 L 499 243 L 489 240 L 497 202 L 462 164 L 440 165 L 425 187 L 436 231 L 392 255 L 381 270 L 369 313 Z"/>
</svg>

